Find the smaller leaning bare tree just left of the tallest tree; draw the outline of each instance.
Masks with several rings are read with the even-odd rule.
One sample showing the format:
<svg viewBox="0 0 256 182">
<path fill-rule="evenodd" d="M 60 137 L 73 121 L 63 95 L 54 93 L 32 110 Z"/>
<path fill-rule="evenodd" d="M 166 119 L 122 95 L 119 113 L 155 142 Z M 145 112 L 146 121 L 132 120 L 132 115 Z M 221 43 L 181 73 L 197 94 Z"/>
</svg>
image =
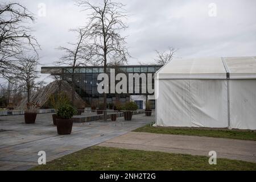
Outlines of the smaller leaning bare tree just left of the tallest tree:
<svg viewBox="0 0 256 182">
<path fill-rule="evenodd" d="M 83 28 L 77 28 L 72 30 L 76 32 L 77 42 L 68 43 L 71 48 L 59 47 L 61 51 L 64 51 L 64 55 L 60 58 L 59 61 L 56 61 L 56 64 L 67 65 L 71 67 L 71 70 L 67 69 L 66 71 L 71 74 L 72 81 L 72 105 L 75 104 L 75 72 L 76 69 L 80 66 L 86 66 L 88 61 L 91 59 L 91 55 L 88 53 L 88 45 L 86 44 L 87 31 Z"/>
</svg>

